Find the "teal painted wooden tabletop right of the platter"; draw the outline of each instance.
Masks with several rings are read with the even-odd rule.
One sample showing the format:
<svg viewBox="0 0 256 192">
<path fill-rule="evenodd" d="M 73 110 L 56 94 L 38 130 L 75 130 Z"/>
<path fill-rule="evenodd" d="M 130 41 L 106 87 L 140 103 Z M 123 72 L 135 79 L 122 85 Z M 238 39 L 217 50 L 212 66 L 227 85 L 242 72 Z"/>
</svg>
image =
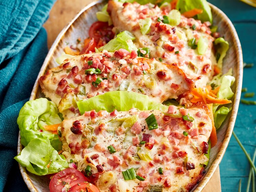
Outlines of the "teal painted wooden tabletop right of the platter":
<svg viewBox="0 0 256 192">
<path fill-rule="evenodd" d="M 248 92 L 256 93 L 256 8 L 238 0 L 208 1 L 220 8 L 232 21 L 242 45 L 244 62 L 255 64 L 252 68 L 244 69 L 243 87 L 247 87 Z M 244 98 L 243 95 L 241 98 Z M 256 96 L 250 100 L 256 101 Z M 246 150 L 253 156 L 256 148 L 256 106 L 239 105 L 234 131 Z M 240 178 L 242 191 L 245 191 L 249 163 L 233 136 L 221 161 L 220 174 L 223 192 L 238 191 Z"/>
</svg>

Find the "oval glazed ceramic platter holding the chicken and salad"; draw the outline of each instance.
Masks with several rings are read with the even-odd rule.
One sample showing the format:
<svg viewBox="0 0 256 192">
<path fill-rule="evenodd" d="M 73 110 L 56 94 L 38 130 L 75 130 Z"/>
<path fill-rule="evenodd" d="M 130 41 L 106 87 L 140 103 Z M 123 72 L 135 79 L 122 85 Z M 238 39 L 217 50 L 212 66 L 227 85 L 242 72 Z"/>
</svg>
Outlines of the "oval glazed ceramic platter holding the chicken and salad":
<svg viewBox="0 0 256 192">
<path fill-rule="evenodd" d="M 45 58 L 43 66 L 35 82 L 30 99 L 36 99 L 44 97 L 41 93 L 41 89 L 38 83 L 38 78 L 53 67 L 57 67 L 56 58 L 58 58 L 63 52 L 67 42 L 69 44 L 76 44 L 78 37 L 81 39 L 88 37 L 88 29 L 92 23 L 96 21 L 95 13 L 106 4 L 106 1 L 99 0 L 90 3 L 82 11 L 80 11 L 76 17 L 64 28 L 58 35 L 57 39 L 53 43 L 48 55 Z M 228 147 L 228 143 L 234 128 L 234 123 L 237 116 L 238 105 L 240 101 L 241 88 L 242 88 L 242 74 L 243 74 L 243 59 L 242 50 L 238 35 L 234 26 L 229 18 L 217 7 L 210 5 L 213 15 L 213 25 L 217 25 L 221 36 L 224 36 L 225 40 L 229 42 L 230 48 L 225 56 L 223 62 L 223 73 L 227 72 L 230 68 L 233 69 L 233 76 L 236 78 L 236 82 L 233 84 L 232 90 L 235 93 L 232 101 L 232 111 L 226 118 L 222 127 L 217 130 L 217 145 L 212 148 L 210 154 L 210 162 L 206 167 L 206 174 L 202 178 L 201 182 L 195 186 L 194 191 L 202 191 L 205 185 L 208 183 L 217 167 L 219 166 L 221 159 Z M 20 136 L 18 141 L 18 154 L 22 150 L 23 146 L 20 144 Z M 45 176 L 37 176 L 26 171 L 26 168 L 20 166 L 23 179 L 30 191 L 49 191 L 49 178 Z"/>
</svg>

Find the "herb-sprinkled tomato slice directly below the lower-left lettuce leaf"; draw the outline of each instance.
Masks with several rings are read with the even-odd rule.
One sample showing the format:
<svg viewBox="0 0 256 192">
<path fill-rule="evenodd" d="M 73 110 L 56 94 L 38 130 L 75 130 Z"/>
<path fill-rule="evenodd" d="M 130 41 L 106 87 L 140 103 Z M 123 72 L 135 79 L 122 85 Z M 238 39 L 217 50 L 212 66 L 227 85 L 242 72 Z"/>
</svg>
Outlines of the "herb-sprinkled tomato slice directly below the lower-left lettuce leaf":
<svg viewBox="0 0 256 192">
<path fill-rule="evenodd" d="M 70 187 L 77 183 L 83 183 L 87 178 L 80 171 L 74 168 L 66 168 L 56 173 L 50 181 L 50 192 L 62 192 L 63 187 L 69 184 Z"/>
</svg>

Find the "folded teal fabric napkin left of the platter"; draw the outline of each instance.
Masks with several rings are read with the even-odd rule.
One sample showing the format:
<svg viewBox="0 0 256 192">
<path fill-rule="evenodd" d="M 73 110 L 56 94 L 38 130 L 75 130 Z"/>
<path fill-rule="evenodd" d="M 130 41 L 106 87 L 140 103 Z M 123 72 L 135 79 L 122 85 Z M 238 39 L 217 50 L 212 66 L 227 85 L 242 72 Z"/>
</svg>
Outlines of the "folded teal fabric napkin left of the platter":
<svg viewBox="0 0 256 192">
<path fill-rule="evenodd" d="M 42 25 L 54 1 L 0 1 L 0 191 L 28 191 L 13 159 L 16 121 L 48 52 Z"/>
</svg>

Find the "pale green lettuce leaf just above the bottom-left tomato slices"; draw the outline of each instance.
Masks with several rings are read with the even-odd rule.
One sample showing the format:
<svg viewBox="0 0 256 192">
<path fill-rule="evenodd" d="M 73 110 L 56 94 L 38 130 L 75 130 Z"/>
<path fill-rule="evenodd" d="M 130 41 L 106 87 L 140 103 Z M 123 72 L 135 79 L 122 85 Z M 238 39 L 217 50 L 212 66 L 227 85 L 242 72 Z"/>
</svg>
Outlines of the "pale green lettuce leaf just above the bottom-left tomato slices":
<svg viewBox="0 0 256 192">
<path fill-rule="evenodd" d="M 14 159 L 36 175 L 58 173 L 68 167 L 65 157 L 58 155 L 48 138 L 32 139 Z"/>
</svg>

